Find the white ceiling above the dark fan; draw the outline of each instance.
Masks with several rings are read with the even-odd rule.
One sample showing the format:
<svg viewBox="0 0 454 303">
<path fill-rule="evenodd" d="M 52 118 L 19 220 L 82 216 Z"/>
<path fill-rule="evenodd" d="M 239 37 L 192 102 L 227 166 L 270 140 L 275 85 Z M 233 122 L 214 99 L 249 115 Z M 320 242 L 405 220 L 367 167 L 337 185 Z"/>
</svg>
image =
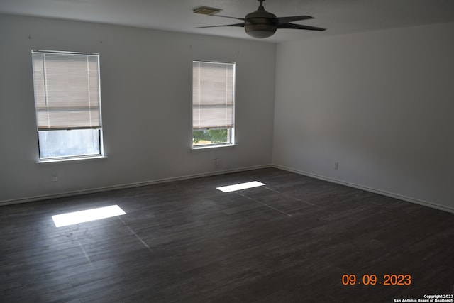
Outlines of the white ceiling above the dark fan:
<svg viewBox="0 0 454 303">
<path fill-rule="evenodd" d="M 258 4 L 256 0 L 0 0 L 0 13 L 253 39 L 238 27 L 196 28 L 239 21 L 192 10 L 211 6 L 222 9 L 222 15 L 243 18 Z M 267 0 L 264 6 L 278 17 L 313 16 L 295 23 L 327 28 L 323 32 L 278 29 L 265 39 L 274 43 L 454 21 L 454 0 Z"/>
</svg>

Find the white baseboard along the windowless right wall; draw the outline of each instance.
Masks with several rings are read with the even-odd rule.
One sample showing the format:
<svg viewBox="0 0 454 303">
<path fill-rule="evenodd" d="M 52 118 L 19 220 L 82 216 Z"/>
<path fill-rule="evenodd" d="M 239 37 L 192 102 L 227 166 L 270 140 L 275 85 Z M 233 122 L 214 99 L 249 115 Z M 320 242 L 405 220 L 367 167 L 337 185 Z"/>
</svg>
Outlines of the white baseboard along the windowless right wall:
<svg viewBox="0 0 454 303">
<path fill-rule="evenodd" d="M 285 166 L 282 166 L 282 165 L 273 164 L 272 167 L 278 168 L 279 170 L 287 170 L 287 172 L 294 172 L 296 174 L 304 175 L 304 176 L 307 176 L 307 177 L 313 177 L 315 179 L 319 179 L 319 180 L 323 180 L 323 181 L 328 181 L 328 182 L 332 182 L 332 183 L 336 183 L 336 184 L 341 184 L 341 185 L 345 185 L 345 186 L 348 186 L 348 187 L 353 187 L 353 188 L 356 188 L 356 189 L 362 189 L 362 190 L 365 190 L 366 192 L 373 192 L 375 194 L 381 194 L 383 196 L 391 197 L 391 198 L 394 198 L 394 199 L 399 199 L 399 200 L 402 200 L 402 201 L 405 201 L 405 202 L 419 204 L 419 205 L 422 205 L 422 206 L 431 207 L 433 209 L 438 209 L 438 210 L 441 210 L 441 211 L 448 211 L 448 212 L 454 214 L 454 209 L 452 209 L 450 207 L 434 204 L 434 203 L 423 201 L 423 200 L 420 200 L 420 199 L 414 199 L 414 198 L 411 198 L 411 197 L 402 196 L 401 194 L 394 194 L 392 192 L 386 192 L 386 191 L 380 190 L 380 189 L 375 189 L 375 188 L 371 188 L 371 187 L 365 187 L 365 186 L 362 186 L 360 184 L 354 184 L 354 183 L 345 182 L 345 181 L 342 181 L 342 180 L 333 179 L 333 178 L 330 178 L 330 177 L 316 175 L 316 174 L 313 174 L 311 172 L 304 172 L 302 170 L 295 170 L 294 168 L 285 167 Z"/>
</svg>

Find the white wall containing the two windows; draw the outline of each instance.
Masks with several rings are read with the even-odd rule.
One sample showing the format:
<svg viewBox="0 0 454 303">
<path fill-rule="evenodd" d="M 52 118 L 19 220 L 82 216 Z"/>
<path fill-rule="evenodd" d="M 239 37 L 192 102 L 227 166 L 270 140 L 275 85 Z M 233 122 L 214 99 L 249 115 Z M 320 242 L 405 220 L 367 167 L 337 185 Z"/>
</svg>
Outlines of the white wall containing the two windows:
<svg viewBox="0 0 454 303">
<path fill-rule="evenodd" d="M 0 204 L 271 164 L 272 43 L 6 15 L 0 43 Z M 101 54 L 107 158 L 36 163 L 32 49 Z M 191 153 L 192 60 L 237 63 L 238 146 Z"/>
</svg>

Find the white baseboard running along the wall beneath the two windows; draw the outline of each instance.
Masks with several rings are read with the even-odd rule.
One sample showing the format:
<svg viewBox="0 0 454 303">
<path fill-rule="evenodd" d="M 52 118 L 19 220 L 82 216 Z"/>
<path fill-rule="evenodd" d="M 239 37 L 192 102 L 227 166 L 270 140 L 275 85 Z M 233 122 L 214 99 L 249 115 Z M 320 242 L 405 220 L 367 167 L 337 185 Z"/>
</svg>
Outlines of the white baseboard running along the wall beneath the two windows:
<svg viewBox="0 0 454 303">
<path fill-rule="evenodd" d="M 241 167 L 241 168 L 236 168 L 236 169 L 232 169 L 232 170 L 218 170 L 216 172 L 204 172 L 204 173 L 194 174 L 194 175 L 185 175 L 182 177 L 170 177 L 170 178 L 159 179 L 159 180 L 150 180 L 150 181 L 145 181 L 145 182 L 118 184 L 118 185 L 113 185 L 113 186 L 108 186 L 108 187 L 98 187 L 98 188 L 94 188 L 94 189 L 83 189 L 83 190 L 77 190 L 77 191 L 73 191 L 73 192 L 63 192 L 63 193 L 58 193 L 58 194 L 44 194 L 44 195 L 34 196 L 34 197 L 9 199 L 9 200 L 0 201 L 0 206 L 11 205 L 11 204 L 20 204 L 20 203 L 26 203 L 26 202 L 43 201 L 43 200 L 48 200 L 48 199 L 79 196 L 82 194 L 94 194 L 96 192 L 108 192 L 109 190 L 141 187 L 141 186 L 160 184 L 160 183 L 166 183 L 166 182 L 195 179 L 195 178 L 200 178 L 200 177 L 225 175 L 225 174 L 230 174 L 233 172 L 245 172 L 248 170 L 259 170 L 262 168 L 270 168 L 270 167 L 272 167 L 272 165 L 257 165 L 257 166 L 250 166 L 250 167 Z"/>
</svg>

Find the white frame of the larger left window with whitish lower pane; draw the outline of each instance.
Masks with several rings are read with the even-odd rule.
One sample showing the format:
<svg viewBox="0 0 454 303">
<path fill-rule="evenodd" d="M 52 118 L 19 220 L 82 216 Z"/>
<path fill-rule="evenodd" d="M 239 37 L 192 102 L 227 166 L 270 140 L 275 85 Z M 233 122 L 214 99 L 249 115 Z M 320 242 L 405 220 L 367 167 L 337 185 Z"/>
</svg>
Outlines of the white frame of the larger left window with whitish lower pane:
<svg viewBox="0 0 454 303">
<path fill-rule="evenodd" d="M 106 156 L 104 155 L 104 136 L 103 136 L 103 126 L 102 126 L 102 112 L 101 112 L 101 70 L 100 70 L 100 55 L 99 53 L 80 53 L 80 52 L 70 52 L 70 51 L 58 51 L 58 50 L 31 50 L 31 53 L 32 53 L 32 68 L 33 68 L 33 92 L 34 92 L 34 100 L 35 100 L 35 119 L 36 119 L 36 132 L 37 132 L 37 143 L 38 143 L 38 160 L 37 162 L 38 163 L 41 163 L 41 162 L 62 162 L 62 161 L 70 161 L 70 160 L 87 160 L 87 159 L 96 159 L 96 158 L 106 158 Z M 93 77 L 94 75 L 96 75 L 96 84 L 95 84 L 95 87 L 96 87 L 96 91 L 95 91 L 95 96 L 96 96 L 96 106 L 97 106 L 97 109 L 96 112 L 98 112 L 98 123 L 95 122 L 95 125 L 92 126 L 91 125 L 91 122 L 90 122 L 90 125 L 87 125 L 87 126 L 82 126 L 82 127 L 79 127 L 79 126 L 75 126 L 75 127 L 72 127 L 72 126 L 68 126 L 68 127 L 51 127 L 49 126 L 48 128 L 46 127 L 43 127 L 39 125 L 38 123 L 38 99 L 39 98 L 44 98 L 45 99 L 45 102 L 48 103 L 48 98 L 49 98 L 49 95 L 48 95 L 48 92 L 47 92 L 47 87 L 48 87 L 48 79 L 46 79 L 47 75 L 46 73 L 48 72 L 48 68 L 46 67 L 45 65 L 45 55 L 43 55 L 43 77 L 45 79 L 45 84 L 38 84 L 38 87 L 40 85 L 44 85 L 44 89 L 45 89 L 45 92 L 44 92 L 44 97 L 38 97 L 37 96 L 37 84 L 36 84 L 36 81 L 37 79 L 35 79 L 36 75 L 35 72 L 35 55 L 36 54 L 40 54 L 40 53 L 43 53 L 43 54 L 51 54 L 51 55 L 61 55 L 62 57 L 65 57 L 66 55 L 68 56 L 71 56 L 71 55 L 74 55 L 75 56 L 86 56 L 87 58 L 87 66 L 89 65 L 89 58 L 93 58 L 93 57 L 96 57 L 96 60 L 94 61 L 93 64 L 96 64 L 96 71 L 94 72 L 89 72 L 89 67 L 87 67 L 87 82 L 90 84 L 90 77 Z M 68 61 L 71 60 L 70 57 L 68 57 Z M 65 61 L 66 63 L 68 61 Z M 41 71 L 39 70 L 38 71 L 38 74 L 40 73 Z M 39 77 L 39 76 L 38 76 Z M 68 77 L 70 77 L 70 75 L 68 75 Z M 39 80 L 38 80 L 39 81 Z M 67 92 L 65 92 L 67 93 Z M 90 94 L 90 87 L 88 87 L 87 89 L 87 94 Z M 65 96 L 65 95 L 64 95 Z M 89 104 L 92 103 L 92 101 L 90 100 L 90 97 L 87 97 L 87 100 L 89 102 Z M 67 103 L 68 104 L 68 103 Z M 76 104 L 72 104 L 73 106 L 76 106 Z M 52 106 L 48 106 L 50 107 L 50 109 L 48 109 L 49 111 L 52 111 Z M 69 109 L 71 110 L 71 109 Z M 86 109 L 87 111 L 87 109 Z M 88 106 L 88 111 L 92 111 L 92 108 L 90 107 L 90 105 Z M 91 115 L 91 114 L 90 114 Z M 87 154 L 81 154 L 81 155 L 62 155 L 62 156 L 52 156 L 52 157 L 44 157 L 43 156 L 43 150 L 41 149 L 41 143 L 40 143 L 40 133 L 44 133 L 44 132 L 52 132 L 52 131 L 76 131 L 76 130 L 93 130 L 93 131 L 96 131 L 97 132 L 97 143 L 99 143 L 99 146 L 94 146 L 94 148 L 97 150 L 99 150 L 99 153 L 87 153 Z"/>
</svg>

